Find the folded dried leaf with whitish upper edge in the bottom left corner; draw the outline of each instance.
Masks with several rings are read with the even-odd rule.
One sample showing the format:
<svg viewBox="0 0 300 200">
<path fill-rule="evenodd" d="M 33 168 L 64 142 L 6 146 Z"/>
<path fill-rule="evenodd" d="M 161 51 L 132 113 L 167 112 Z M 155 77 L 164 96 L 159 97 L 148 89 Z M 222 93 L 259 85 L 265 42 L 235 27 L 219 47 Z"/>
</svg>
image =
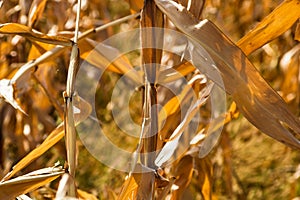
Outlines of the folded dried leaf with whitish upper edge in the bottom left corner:
<svg viewBox="0 0 300 200">
<path fill-rule="evenodd" d="M 55 180 L 64 173 L 62 168 L 50 167 L 0 183 L 0 199 L 13 199 Z"/>
</svg>

